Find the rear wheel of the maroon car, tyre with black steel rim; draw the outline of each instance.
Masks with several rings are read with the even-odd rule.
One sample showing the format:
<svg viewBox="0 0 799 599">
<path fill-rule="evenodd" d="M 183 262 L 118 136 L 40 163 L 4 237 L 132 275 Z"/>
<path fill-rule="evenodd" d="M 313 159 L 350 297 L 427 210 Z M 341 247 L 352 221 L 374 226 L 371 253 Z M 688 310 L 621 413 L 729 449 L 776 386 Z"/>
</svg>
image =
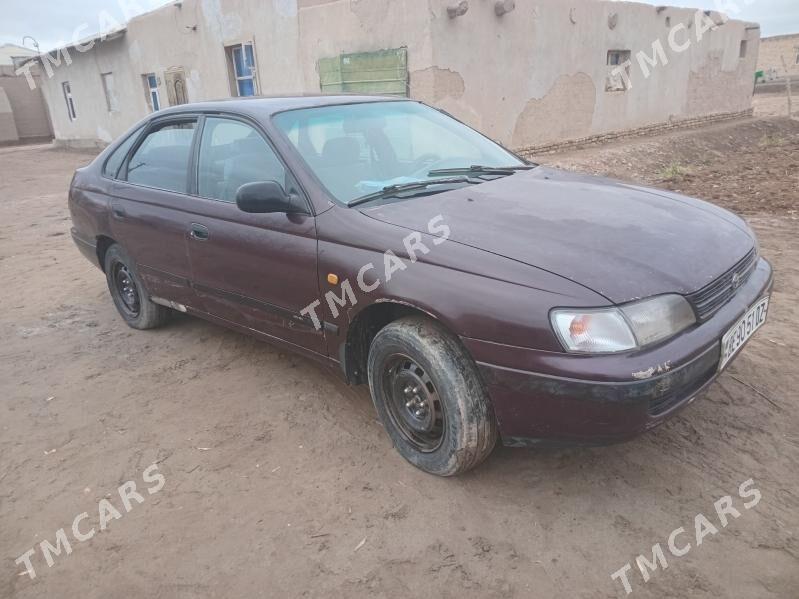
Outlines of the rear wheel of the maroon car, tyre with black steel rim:
<svg viewBox="0 0 799 599">
<path fill-rule="evenodd" d="M 118 244 L 105 253 L 105 278 L 120 316 L 134 329 L 154 329 L 169 320 L 169 308 L 150 301 L 136 267 Z"/>
</svg>

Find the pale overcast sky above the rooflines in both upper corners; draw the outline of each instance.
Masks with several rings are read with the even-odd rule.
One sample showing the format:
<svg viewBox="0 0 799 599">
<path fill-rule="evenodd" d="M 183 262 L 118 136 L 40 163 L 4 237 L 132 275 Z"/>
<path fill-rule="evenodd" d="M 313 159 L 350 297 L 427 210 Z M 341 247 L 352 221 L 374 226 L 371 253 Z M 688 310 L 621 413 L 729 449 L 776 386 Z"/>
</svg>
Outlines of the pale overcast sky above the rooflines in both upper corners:
<svg viewBox="0 0 799 599">
<path fill-rule="evenodd" d="M 268 1 L 268 0 L 260 0 Z M 370 1 L 370 0 L 367 0 Z M 672 4 L 716 9 L 726 6 L 733 18 L 756 21 L 764 36 L 799 33 L 799 0 L 642 0 L 648 4 Z M 134 13 L 167 4 L 168 0 L 0 0 L 0 43 L 21 44 L 22 37 L 36 38 L 42 50 L 78 37 L 108 29 L 113 22 L 124 23 Z M 129 7 L 129 8 L 123 8 Z M 739 10 L 735 10 L 735 8 Z M 30 45 L 30 42 L 28 42 Z"/>
</svg>

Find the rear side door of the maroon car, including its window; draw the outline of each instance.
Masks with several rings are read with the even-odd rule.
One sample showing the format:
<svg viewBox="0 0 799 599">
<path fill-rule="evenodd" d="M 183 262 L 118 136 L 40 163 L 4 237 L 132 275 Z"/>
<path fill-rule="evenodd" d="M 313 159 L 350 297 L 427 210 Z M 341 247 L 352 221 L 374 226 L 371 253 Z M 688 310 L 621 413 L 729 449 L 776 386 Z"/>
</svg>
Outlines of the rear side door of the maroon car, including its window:
<svg viewBox="0 0 799 599">
<path fill-rule="evenodd" d="M 195 307 L 186 235 L 196 116 L 149 125 L 111 190 L 111 231 L 136 263 L 150 296 Z"/>
</svg>

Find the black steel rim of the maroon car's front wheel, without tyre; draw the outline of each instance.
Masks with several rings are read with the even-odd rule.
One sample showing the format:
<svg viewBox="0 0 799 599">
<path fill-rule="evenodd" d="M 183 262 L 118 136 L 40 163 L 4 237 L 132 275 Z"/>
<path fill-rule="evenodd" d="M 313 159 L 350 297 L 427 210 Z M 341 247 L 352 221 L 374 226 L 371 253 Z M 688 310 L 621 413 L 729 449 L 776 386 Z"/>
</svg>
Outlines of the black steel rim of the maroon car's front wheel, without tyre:
<svg viewBox="0 0 799 599">
<path fill-rule="evenodd" d="M 389 416 L 402 436 L 419 451 L 438 449 L 446 415 L 430 375 L 410 357 L 394 354 L 386 361 L 382 386 Z"/>
</svg>

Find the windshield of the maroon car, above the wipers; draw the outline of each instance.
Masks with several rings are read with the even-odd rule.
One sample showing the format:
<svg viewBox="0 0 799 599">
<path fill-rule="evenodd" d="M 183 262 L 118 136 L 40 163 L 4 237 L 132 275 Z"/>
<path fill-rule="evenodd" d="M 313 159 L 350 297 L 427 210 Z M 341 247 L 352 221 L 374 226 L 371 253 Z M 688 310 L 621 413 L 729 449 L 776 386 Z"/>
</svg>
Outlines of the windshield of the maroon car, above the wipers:
<svg viewBox="0 0 799 599">
<path fill-rule="evenodd" d="M 524 163 L 473 129 L 417 102 L 292 110 L 274 118 L 308 167 L 343 204 L 446 169 Z"/>
</svg>

